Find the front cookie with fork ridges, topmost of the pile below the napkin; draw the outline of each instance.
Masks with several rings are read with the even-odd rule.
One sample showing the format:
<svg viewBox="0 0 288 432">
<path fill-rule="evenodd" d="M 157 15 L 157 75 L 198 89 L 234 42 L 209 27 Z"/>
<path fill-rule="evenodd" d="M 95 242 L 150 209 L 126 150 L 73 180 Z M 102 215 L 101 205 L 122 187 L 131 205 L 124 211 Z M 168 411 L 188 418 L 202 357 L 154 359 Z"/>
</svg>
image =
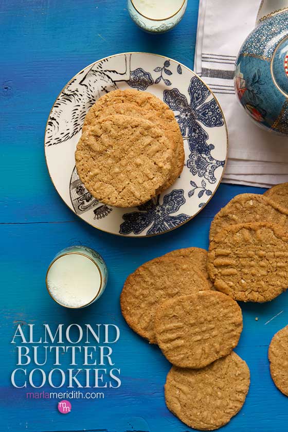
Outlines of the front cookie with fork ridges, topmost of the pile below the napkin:
<svg viewBox="0 0 288 432">
<path fill-rule="evenodd" d="M 217 290 L 239 301 L 273 300 L 288 287 L 288 237 L 280 225 L 229 225 L 208 251 L 208 273 Z"/>
</svg>

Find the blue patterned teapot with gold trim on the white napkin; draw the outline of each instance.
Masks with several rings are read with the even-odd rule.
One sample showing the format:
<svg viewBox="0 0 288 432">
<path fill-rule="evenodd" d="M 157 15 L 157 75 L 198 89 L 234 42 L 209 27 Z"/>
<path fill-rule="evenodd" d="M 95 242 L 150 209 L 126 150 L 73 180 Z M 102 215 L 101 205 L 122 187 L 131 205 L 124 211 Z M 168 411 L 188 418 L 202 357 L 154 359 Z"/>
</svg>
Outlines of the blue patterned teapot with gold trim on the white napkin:
<svg viewBox="0 0 288 432">
<path fill-rule="evenodd" d="M 268 131 L 288 135 L 288 0 L 262 0 L 243 43 L 235 90 L 245 111 Z"/>
</svg>

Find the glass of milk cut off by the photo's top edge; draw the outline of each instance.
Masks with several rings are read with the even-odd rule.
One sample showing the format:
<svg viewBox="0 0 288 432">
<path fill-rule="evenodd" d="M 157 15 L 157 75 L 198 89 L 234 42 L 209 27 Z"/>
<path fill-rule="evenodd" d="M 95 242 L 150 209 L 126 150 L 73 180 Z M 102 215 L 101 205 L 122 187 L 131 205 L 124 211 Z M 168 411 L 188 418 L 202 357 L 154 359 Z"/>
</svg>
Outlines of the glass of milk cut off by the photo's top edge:
<svg viewBox="0 0 288 432">
<path fill-rule="evenodd" d="M 163 33 L 182 19 L 187 0 L 128 0 L 132 20 L 143 30 Z"/>
</svg>

